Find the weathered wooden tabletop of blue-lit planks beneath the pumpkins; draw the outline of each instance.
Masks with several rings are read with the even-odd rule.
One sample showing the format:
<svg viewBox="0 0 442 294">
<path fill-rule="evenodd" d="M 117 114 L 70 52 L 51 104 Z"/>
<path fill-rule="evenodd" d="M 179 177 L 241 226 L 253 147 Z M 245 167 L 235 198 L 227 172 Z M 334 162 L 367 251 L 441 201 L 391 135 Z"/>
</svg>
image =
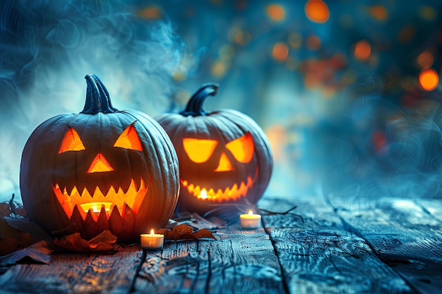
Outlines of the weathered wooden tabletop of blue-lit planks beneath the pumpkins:
<svg viewBox="0 0 442 294">
<path fill-rule="evenodd" d="M 0 271 L 0 293 L 442 293 L 442 201 L 264 198 L 294 214 L 239 221 L 217 240 L 52 254 Z"/>
</svg>

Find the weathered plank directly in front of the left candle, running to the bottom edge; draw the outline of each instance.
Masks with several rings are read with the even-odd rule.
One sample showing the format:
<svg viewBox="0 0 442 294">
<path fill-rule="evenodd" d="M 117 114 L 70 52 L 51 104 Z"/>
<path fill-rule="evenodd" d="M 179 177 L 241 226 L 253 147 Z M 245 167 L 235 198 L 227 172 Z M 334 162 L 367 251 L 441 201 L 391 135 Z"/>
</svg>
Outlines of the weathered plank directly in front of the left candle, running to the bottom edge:
<svg viewBox="0 0 442 294">
<path fill-rule="evenodd" d="M 216 237 L 166 243 L 162 252 L 148 252 L 135 293 L 285 293 L 267 234 Z"/>
</svg>

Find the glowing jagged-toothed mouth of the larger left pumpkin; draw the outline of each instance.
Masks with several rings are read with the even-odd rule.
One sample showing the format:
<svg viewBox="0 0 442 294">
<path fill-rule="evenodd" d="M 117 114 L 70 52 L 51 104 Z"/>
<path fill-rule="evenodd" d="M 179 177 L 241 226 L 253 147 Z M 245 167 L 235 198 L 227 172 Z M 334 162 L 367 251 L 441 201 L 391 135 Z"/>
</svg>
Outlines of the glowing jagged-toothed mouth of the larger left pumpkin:
<svg viewBox="0 0 442 294">
<path fill-rule="evenodd" d="M 92 219 L 97 221 L 102 213 L 106 214 L 107 219 L 109 219 L 109 216 L 115 209 L 117 209 L 121 218 L 124 219 L 124 216 L 121 214 L 124 214 L 126 211 L 125 206 L 129 207 L 134 214 L 137 214 L 143 203 L 148 186 L 149 183 L 146 185 L 143 178 L 141 178 L 138 189 L 134 181 L 131 180 L 126 192 L 121 187 L 116 190 L 113 185 L 110 185 L 105 195 L 98 187 L 95 188 L 92 194 L 87 188 L 83 188 L 80 194 L 75 185 L 70 192 L 66 187 L 61 189 L 58 183 L 52 184 L 52 189 L 69 219 L 71 219 L 74 208 L 77 207 L 76 210 L 78 210 L 83 221 L 89 213 Z"/>
</svg>

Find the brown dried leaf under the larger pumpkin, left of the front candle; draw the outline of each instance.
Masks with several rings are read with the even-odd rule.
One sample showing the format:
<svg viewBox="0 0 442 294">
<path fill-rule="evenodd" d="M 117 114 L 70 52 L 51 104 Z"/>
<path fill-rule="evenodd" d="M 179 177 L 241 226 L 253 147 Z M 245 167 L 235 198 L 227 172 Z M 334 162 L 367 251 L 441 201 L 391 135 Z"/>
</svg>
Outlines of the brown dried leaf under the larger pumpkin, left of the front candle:
<svg viewBox="0 0 442 294">
<path fill-rule="evenodd" d="M 103 231 L 100 235 L 89 241 L 81 238 L 80 233 L 65 235 L 54 240 L 56 246 L 76 252 L 112 251 L 116 242 L 117 237 L 109 230 Z"/>
</svg>

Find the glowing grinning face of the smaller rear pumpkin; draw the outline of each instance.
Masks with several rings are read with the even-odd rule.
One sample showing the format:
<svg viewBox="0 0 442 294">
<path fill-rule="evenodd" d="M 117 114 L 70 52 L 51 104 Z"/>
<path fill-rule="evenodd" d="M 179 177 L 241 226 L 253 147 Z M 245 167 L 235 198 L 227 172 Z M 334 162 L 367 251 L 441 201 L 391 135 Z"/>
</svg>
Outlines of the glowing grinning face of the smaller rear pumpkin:
<svg viewBox="0 0 442 294">
<path fill-rule="evenodd" d="M 181 173 L 181 185 L 200 200 L 229 201 L 247 195 L 258 172 L 251 164 L 254 144 L 251 133 L 220 144 L 220 140 L 184 138 L 183 149 L 189 159 Z M 194 164 L 193 168 L 190 166 Z M 204 175 L 193 171 L 205 171 Z M 241 176 L 239 176 L 241 175 Z"/>
</svg>

